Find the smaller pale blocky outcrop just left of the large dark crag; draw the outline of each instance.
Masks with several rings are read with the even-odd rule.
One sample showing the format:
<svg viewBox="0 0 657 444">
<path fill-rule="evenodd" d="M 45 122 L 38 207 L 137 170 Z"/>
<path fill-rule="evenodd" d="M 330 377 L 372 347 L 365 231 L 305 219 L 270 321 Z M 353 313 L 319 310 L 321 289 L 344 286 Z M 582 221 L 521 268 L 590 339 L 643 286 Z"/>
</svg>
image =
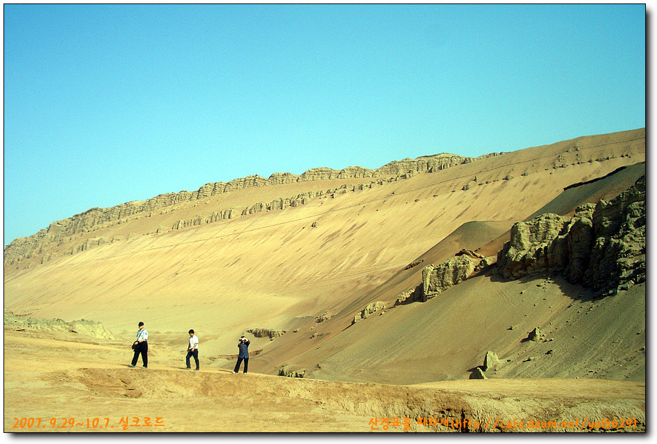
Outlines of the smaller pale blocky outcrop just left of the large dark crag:
<svg viewBox="0 0 657 444">
<path fill-rule="evenodd" d="M 429 265 L 422 270 L 423 302 L 434 298 L 449 287 L 468 279 L 485 256 L 463 249 L 453 258 L 438 265 Z"/>
</svg>

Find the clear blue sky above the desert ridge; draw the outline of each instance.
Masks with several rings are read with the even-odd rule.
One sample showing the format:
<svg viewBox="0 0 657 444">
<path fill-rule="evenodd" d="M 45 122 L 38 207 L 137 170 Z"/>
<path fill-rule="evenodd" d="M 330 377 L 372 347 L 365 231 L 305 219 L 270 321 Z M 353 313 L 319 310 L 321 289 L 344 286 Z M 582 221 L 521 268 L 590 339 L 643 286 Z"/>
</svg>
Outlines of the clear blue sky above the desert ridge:
<svg viewBox="0 0 657 444">
<path fill-rule="evenodd" d="M 4 243 L 95 206 L 645 126 L 643 5 L 4 5 Z"/>
</svg>

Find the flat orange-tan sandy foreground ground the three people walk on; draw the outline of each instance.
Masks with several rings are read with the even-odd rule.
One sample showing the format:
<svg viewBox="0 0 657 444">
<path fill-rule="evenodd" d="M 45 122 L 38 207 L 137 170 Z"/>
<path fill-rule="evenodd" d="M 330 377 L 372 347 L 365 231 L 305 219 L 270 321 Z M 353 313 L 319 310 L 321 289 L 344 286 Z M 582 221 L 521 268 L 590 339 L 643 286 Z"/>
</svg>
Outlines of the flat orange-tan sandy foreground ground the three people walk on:
<svg viewBox="0 0 657 444">
<path fill-rule="evenodd" d="M 645 431 L 645 383 L 627 380 L 340 383 L 213 367 L 189 371 L 162 349 L 148 369 L 131 369 L 122 343 L 71 336 L 5 329 L 5 432 L 461 432 L 463 425 L 454 423 L 461 418 L 471 432 L 479 428 L 475 421 L 497 432 L 586 432 L 589 423 L 600 431 L 604 426 L 594 422 L 601 418 L 636 418 L 623 428 Z M 153 425 L 145 425 L 147 417 Z M 40 426 L 21 428 L 21 418 L 41 418 Z M 384 429 L 373 418 L 389 424 L 398 418 L 400 425 Z M 451 422 L 429 425 L 429 418 Z M 521 426 L 520 418 L 559 425 Z M 577 427 L 562 427 L 575 419 Z M 504 428 L 514 420 L 515 427 Z"/>
</svg>

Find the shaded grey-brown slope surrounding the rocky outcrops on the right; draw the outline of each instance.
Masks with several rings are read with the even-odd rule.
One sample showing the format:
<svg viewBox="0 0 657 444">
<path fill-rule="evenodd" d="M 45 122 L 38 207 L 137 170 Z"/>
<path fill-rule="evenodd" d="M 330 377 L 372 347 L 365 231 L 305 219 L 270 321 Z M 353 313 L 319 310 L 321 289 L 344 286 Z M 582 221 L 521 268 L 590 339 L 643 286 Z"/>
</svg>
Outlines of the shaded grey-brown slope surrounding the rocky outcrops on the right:
<svg viewBox="0 0 657 444">
<path fill-rule="evenodd" d="M 597 202 L 597 197 L 600 195 L 616 197 L 622 184 L 636 182 L 641 175 L 644 175 L 642 198 L 645 200 L 645 164 L 639 164 L 617 171 L 606 177 L 604 182 L 597 181 L 595 187 L 590 186 L 591 184 L 568 187 L 544 208 L 556 208 L 563 205 L 562 202 L 580 206 Z M 631 187 L 633 188 L 634 186 Z M 567 198 L 564 199 L 566 193 Z M 625 194 L 627 193 L 622 193 Z M 573 200 L 573 196 L 576 196 L 576 200 Z M 619 196 L 619 199 L 622 200 L 622 196 Z M 598 206 L 601 204 L 602 202 Z M 626 205 L 622 204 L 622 206 Z M 566 207 L 564 211 L 569 212 L 570 209 Z M 643 224 L 645 224 L 645 209 L 642 211 Z M 602 209 L 600 212 L 610 213 L 609 210 Z M 613 217 L 628 220 L 628 216 L 621 214 Z M 641 218 L 640 215 L 635 217 Z M 597 216 L 594 218 L 594 220 L 598 219 L 600 218 Z M 597 225 L 592 226 L 591 230 L 596 232 L 598 229 L 595 229 L 595 226 L 613 225 L 609 220 L 595 223 Z M 631 246 L 625 248 L 627 251 L 637 250 L 638 255 L 642 254 L 643 280 L 635 279 L 634 282 L 630 281 L 630 284 L 626 283 L 631 276 L 640 273 L 634 270 L 638 266 L 632 263 L 630 271 L 633 273 L 627 274 L 624 271 L 622 274 L 620 271 L 617 273 L 618 276 L 627 276 L 620 283 L 613 283 L 610 274 L 610 276 L 598 276 L 586 285 L 594 289 L 599 289 L 601 283 L 613 287 L 618 285 L 624 290 L 631 288 L 630 293 L 623 292 L 613 299 L 596 300 L 594 291 L 566 282 L 566 280 L 579 282 L 577 278 L 571 278 L 575 276 L 572 259 L 569 268 L 566 259 L 566 264 L 545 262 L 542 265 L 546 272 L 558 267 L 566 267 L 566 278 L 546 279 L 545 273 L 539 273 L 537 264 L 533 267 L 533 272 L 524 271 L 524 274 L 519 275 L 530 275 L 521 281 L 503 280 L 497 277 L 498 265 L 495 265 L 489 267 L 489 271 L 479 278 L 472 278 L 472 281 L 459 284 L 436 296 L 435 302 L 433 300 L 417 302 L 423 291 L 422 270 L 425 266 L 429 266 L 432 260 L 436 263 L 442 262 L 459 249 L 477 249 L 487 240 L 496 238 L 499 233 L 505 233 L 477 250 L 487 251 L 487 255 L 494 254 L 496 257 L 491 258 L 490 262 L 495 262 L 497 252 L 502 250 L 503 242 L 508 242 L 509 239 L 509 231 L 505 231 L 506 227 L 508 224 L 505 223 L 497 224 L 497 229 L 492 224 L 481 222 L 464 224 L 418 260 L 411 262 L 415 267 L 406 267 L 399 271 L 378 289 L 346 307 L 344 312 L 337 313 L 334 318 L 323 322 L 322 325 L 312 327 L 314 331 L 310 339 L 317 338 L 314 349 L 310 345 L 298 347 L 294 350 L 300 349 L 302 353 L 295 356 L 290 353 L 290 349 L 294 347 L 281 344 L 280 348 L 272 349 L 259 359 L 268 363 L 284 362 L 287 369 L 296 368 L 306 377 L 407 384 L 468 376 L 468 372 L 476 367 L 477 361 L 483 360 L 485 351 L 490 349 L 503 351 L 503 364 L 508 364 L 503 369 L 503 374 L 508 376 L 593 376 L 643 380 L 645 378 L 645 284 L 642 282 L 645 280 L 645 234 L 643 238 L 638 234 L 626 235 L 631 239 L 629 242 L 642 242 L 643 252 Z M 555 237 L 557 233 L 559 229 L 555 231 Z M 581 235 L 578 235 L 581 238 Z M 567 242 L 567 238 L 564 238 L 564 242 Z M 590 242 L 591 245 L 587 248 L 595 250 L 593 240 Z M 579 248 L 584 246 L 580 245 Z M 552 254 L 556 261 L 557 254 Z M 577 252 L 572 254 L 577 255 Z M 548 258 L 549 255 L 548 252 Z M 617 255 L 624 258 L 622 261 L 629 260 L 627 252 Z M 589 251 L 582 257 L 591 257 L 593 261 L 597 256 Z M 432 258 L 432 260 L 423 262 L 422 258 Z M 602 269 L 607 273 L 613 273 L 615 265 L 611 262 L 618 260 L 618 258 L 607 260 L 609 263 L 605 263 Z M 527 259 L 522 258 L 517 261 L 521 264 L 519 267 L 525 267 L 524 270 L 532 269 L 528 265 L 532 262 Z M 509 267 L 508 262 L 500 264 L 499 267 Z M 582 270 L 576 276 L 584 276 L 584 274 Z M 403 282 L 405 287 L 395 287 L 399 282 Z M 632 287 L 634 284 L 638 285 Z M 405 293 L 397 296 L 408 298 L 406 302 L 411 302 L 413 307 L 406 307 L 406 303 L 399 305 L 399 300 L 396 304 L 395 292 L 409 287 L 411 289 L 417 287 L 415 294 Z M 607 287 L 603 285 L 602 288 Z M 616 291 L 613 294 L 616 294 Z M 373 307 L 375 309 L 367 319 L 358 320 L 358 323 L 349 326 L 347 319 L 349 315 L 358 311 L 360 307 L 369 307 L 369 304 L 375 300 L 381 301 L 380 306 Z M 627 310 L 622 309 L 623 306 L 626 306 Z M 586 317 L 584 314 L 592 316 Z M 494 319 L 491 316 L 494 316 Z M 546 334 L 552 335 L 548 342 L 555 340 L 555 337 L 559 342 L 520 347 L 521 342 L 526 342 L 526 335 L 530 329 L 534 328 L 530 327 L 531 322 L 535 322 L 535 326 L 542 326 Z M 594 327 L 595 325 L 597 327 Z M 605 331 L 604 337 L 591 335 L 591 331 L 596 330 L 601 334 Z M 560 334 L 557 334 L 557 331 L 560 331 Z M 577 333 L 583 337 L 573 336 L 572 339 L 577 340 L 571 340 L 567 335 L 564 336 L 564 331 Z M 463 340 L 459 341 L 454 336 L 455 333 L 468 338 L 468 344 Z M 524 336 L 518 338 L 518 334 Z M 449 340 L 445 340 L 446 338 Z M 598 359 L 599 349 L 595 341 L 609 341 L 611 338 L 614 338 L 612 342 L 624 338 L 627 347 L 616 353 L 607 354 L 604 359 Z M 604 347 L 611 348 L 611 344 Z M 537 348 L 542 349 L 540 355 L 536 355 L 539 353 L 536 351 Z M 555 349 L 558 349 L 559 353 L 556 353 Z M 577 357 L 571 356 L 572 352 L 575 352 Z M 546 354 L 550 355 L 547 363 L 544 356 Z M 526 358 L 527 361 L 519 360 L 518 356 Z M 530 360 L 533 360 L 532 365 L 525 364 Z M 538 365 L 537 360 L 539 360 Z M 568 365 L 565 360 L 569 360 Z M 624 368 L 622 368 L 623 363 Z M 504 366 L 500 365 L 500 367 Z"/>
</svg>

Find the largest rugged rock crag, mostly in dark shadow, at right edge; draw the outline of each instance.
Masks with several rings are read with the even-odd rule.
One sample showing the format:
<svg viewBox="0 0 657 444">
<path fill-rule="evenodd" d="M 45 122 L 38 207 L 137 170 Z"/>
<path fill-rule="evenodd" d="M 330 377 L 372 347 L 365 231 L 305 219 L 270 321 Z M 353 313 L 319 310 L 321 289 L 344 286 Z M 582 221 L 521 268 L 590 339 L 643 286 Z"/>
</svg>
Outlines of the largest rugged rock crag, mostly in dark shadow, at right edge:
<svg viewBox="0 0 657 444">
<path fill-rule="evenodd" d="M 562 272 L 569 282 L 613 294 L 645 282 L 645 176 L 611 201 L 584 204 L 573 218 L 518 222 L 499 252 L 506 278 Z"/>
</svg>

